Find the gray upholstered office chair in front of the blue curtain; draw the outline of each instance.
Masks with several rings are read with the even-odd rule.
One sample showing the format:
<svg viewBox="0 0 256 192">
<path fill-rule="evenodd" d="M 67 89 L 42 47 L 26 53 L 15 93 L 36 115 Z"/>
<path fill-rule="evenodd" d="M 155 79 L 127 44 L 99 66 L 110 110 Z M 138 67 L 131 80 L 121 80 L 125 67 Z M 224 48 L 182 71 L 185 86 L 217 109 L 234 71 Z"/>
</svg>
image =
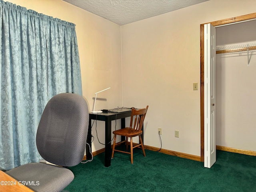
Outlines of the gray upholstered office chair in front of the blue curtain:
<svg viewBox="0 0 256 192">
<path fill-rule="evenodd" d="M 29 163 L 6 173 L 38 192 L 62 191 L 74 174 L 67 168 L 84 157 L 89 113 L 84 98 L 72 93 L 61 93 L 46 104 L 36 134 L 38 152 L 45 163 Z M 32 184 L 32 185 L 31 185 Z"/>
</svg>

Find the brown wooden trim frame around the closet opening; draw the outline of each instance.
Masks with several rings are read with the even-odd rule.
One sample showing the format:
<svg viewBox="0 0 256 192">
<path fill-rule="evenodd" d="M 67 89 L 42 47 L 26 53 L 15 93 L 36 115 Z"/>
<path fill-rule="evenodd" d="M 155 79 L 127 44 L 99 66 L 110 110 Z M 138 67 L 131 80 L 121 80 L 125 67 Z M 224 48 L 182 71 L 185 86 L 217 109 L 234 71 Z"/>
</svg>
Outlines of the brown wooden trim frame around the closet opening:
<svg viewBox="0 0 256 192">
<path fill-rule="evenodd" d="M 208 22 L 212 26 L 221 26 L 246 20 L 256 19 L 256 13 L 228 19 Z M 208 24 L 204 23 L 204 24 Z M 200 24 L 200 129 L 201 129 L 201 162 L 204 162 L 204 24 Z"/>
</svg>

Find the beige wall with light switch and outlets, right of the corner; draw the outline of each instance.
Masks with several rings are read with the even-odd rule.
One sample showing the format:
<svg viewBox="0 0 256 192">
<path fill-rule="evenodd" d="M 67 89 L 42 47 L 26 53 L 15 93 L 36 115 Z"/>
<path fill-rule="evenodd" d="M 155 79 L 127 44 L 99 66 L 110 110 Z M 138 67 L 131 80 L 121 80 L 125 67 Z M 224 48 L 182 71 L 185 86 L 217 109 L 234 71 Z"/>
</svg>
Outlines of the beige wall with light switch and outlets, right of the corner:
<svg viewBox="0 0 256 192">
<path fill-rule="evenodd" d="M 123 102 L 149 105 L 144 144 L 160 147 L 160 127 L 162 148 L 200 156 L 200 24 L 254 12 L 254 0 L 210 0 L 121 26 Z"/>
</svg>

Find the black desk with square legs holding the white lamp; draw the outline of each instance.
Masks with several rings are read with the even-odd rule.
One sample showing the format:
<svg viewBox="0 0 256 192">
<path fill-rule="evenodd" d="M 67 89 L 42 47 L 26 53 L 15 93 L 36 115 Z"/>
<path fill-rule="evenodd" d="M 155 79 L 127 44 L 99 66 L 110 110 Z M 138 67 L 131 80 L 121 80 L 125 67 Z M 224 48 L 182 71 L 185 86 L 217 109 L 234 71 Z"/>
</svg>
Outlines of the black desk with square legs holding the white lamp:
<svg viewBox="0 0 256 192">
<path fill-rule="evenodd" d="M 87 143 L 90 144 L 90 148 L 86 145 L 86 159 L 91 159 L 90 154 L 92 150 L 92 120 L 105 121 L 105 167 L 111 165 L 111 121 L 121 119 L 121 128 L 125 128 L 125 118 L 131 116 L 131 111 L 121 113 L 89 113 L 89 128 L 87 135 Z M 91 150 L 90 150 L 91 149 Z"/>
</svg>

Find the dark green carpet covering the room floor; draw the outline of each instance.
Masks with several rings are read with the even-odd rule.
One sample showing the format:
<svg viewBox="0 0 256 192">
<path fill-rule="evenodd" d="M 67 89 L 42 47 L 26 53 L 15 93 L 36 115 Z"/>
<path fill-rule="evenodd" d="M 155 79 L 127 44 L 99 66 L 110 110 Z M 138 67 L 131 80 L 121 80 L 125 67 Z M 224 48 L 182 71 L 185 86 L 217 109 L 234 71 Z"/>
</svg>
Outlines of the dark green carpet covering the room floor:
<svg viewBox="0 0 256 192">
<path fill-rule="evenodd" d="M 75 178 L 70 192 L 256 192 L 256 157 L 217 150 L 212 168 L 202 162 L 160 152 L 134 149 L 115 152 L 111 166 L 104 167 L 104 154 L 92 162 L 71 167 Z"/>
</svg>

